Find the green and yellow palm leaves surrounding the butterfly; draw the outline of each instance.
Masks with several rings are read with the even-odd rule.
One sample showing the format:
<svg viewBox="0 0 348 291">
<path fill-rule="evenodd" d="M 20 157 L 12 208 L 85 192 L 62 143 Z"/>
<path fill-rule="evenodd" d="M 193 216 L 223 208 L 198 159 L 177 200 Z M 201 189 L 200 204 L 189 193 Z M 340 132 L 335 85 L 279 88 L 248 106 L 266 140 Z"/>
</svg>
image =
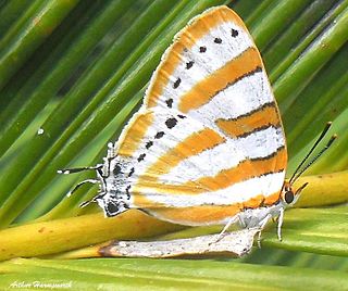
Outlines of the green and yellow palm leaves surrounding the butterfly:
<svg viewBox="0 0 348 291">
<path fill-rule="evenodd" d="M 62 177 L 57 169 L 101 161 L 105 144 L 117 138 L 141 103 L 173 36 L 192 16 L 219 4 L 228 4 L 241 16 L 261 51 L 287 136 L 288 173 L 324 124 L 333 121 L 338 141 L 308 174 L 337 173 L 335 179 L 347 179 L 347 0 L 0 1 L 2 260 L 175 230 L 141 218 L 150 226 L 147 235 L 144 228 L 135 228 L 132 236 L 123 233 L 121 224 L 113 237 L 103 236 L 108 230 L 88 218 L 100 210 L 78 207 L 96 188 L 86 186 L 65 198 L 90 173 Z M 344 193 L 339 201 L 347 202 L 345 182 L 338 189 L 323 188 Z M 334 202 L 328 197 L 321 204 Z M 348 289 L 347 215 L 347 205 L 290 210 L 285 214 L 283 242 L 271 224 L 262 249 L 239 260 L 5 261 L 0 264 L 0 288 L 16 280 L 41 280 L 72 281 L 74 290 Z M 61 222 L 63 227 L 58 228 Z M 60 231 L 42 239 L 33 223 Z M 74 224 L 79 227 L 73 228 Z M 78 238 L 79 244 L 74 244 Z M 15 251 L 9 255 L 11 248 Z M 4 249 L 7 255 L 1 254 Z"/>
</svg>

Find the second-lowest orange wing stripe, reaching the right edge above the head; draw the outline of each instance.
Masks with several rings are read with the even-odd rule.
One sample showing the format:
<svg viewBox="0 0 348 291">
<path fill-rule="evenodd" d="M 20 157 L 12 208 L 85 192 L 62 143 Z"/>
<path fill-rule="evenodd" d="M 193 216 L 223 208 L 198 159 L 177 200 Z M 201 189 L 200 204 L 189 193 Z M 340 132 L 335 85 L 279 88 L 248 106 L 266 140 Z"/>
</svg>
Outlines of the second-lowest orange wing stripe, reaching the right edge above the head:
<svg viewBox="0 0 348 291">
<path fill-rule="evenodd" d="M 276 163 L 277 161 L 281 162 Z M 277 167 L 275 167 L 275 165 Z M 196 185 L 201 185 L 203 189 L 202 192 L 206 192 L 206 189 L 209 189 L 210 191 L 216 191 L 268 173 L 281 172 L 285 168 L 285 166 L 286 151 L 283 148 L 273 156 L 268 159 L 247 160 L 239 163 L 238 166 L 234 168 L 221 170 L 214 177 L 203 177 L 195 181 L 186 182 L 185 186 L 194 188 Z"/>
</svg>

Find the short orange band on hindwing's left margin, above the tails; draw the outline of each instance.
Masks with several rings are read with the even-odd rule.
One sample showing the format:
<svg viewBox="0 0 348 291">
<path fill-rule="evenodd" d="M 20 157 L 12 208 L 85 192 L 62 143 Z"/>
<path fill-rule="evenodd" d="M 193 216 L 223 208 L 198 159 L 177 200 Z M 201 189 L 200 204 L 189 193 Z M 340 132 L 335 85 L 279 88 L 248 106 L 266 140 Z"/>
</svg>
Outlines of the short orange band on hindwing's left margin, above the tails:
<svg viewBox="0 0 348 291">
<path fill-rule="evenodd" d="M 117 154 L 132 156 L 133 153 L 138 149 L 139 143 L 144 140 L 148 127 L 153 123 L 152 112 L 138 115 L 133 119 L 128 128 L 124 130 L 125 136 L 121 139 L 120 150 Z"/>
</svg>

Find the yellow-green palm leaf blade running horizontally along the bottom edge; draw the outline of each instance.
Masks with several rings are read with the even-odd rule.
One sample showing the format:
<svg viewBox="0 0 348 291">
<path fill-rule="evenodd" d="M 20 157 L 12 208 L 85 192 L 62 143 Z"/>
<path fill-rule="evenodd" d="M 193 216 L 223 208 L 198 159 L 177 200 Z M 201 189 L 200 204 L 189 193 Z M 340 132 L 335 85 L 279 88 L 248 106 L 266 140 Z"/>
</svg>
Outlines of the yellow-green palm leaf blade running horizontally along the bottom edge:
<svg viewBox="0 0 348 291">
<path fill-rule="evenodd" d="M 174 267 L 175 266 L 175 267 Z M 0 265 L 2 286 L 14 281 L 70 283 L 73 290 L 343 290 L 344 271 L 187 260 L 14 260 Z"/>
</svg>

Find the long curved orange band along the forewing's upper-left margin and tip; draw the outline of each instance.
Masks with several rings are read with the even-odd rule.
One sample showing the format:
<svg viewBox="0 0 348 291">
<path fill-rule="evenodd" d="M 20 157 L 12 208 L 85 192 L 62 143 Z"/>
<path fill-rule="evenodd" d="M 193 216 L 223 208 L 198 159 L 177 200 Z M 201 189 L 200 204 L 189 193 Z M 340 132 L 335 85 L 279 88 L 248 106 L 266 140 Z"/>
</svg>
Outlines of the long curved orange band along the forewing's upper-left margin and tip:
<svg viewBox="0 0 348 291">
<path fill-rule="evenodd" d="M 195 43 L 206 36 L 210 29 L 228 21 L 248 31 L 239 16 L 226 7 L 220 7 L 202 13 L 200 17 L 196 18 L 181 31 L 179 36 L 174 40 L 167 56 L 160 63 L 156 81 L 148 90 L 147 105 L 149 107 L 157 105 L 158 100 L 163 93 L 164 87 L 169 83 L 169 76 L 172 76 L 177 65 L 183 63 L 181 58 L 183 51 L 195 46 Z"/>
</svg>

